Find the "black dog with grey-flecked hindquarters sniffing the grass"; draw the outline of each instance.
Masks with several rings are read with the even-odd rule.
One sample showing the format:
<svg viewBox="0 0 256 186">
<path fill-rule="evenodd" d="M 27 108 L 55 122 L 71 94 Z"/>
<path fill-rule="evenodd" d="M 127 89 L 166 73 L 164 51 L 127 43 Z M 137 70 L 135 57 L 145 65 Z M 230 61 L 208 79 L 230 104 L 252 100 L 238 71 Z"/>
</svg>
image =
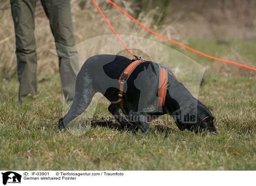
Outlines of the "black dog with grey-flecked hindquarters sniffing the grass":
<svg viewBox="0 0 256 186">
<path fill-rule="evenodd" d="M 131 59 L 119 55 L 88 58 L 76 78 L 76 93 L 71 108 L 59 119 L 58 130 L 62 131 L 70 121 L 83 113 L 96 92 L 102 93 L 110 102 L 116 102 L 118 79 L 131 62 Z M 149 121 L 168 113 L 181 131 L 216 132 L 212 113 L 170 73 L 165 105 L 161 111 L 156 109 L 159 74 L 159 66 L 151 61 L 140 63 L 134 69 L 124 87 L 122 111 L 125 118 L 119 113 L 120 103 L 108 107 L 120 125 L 131 131 L 140 129 L 145 133 L 151 131 Z"/>
</svg>

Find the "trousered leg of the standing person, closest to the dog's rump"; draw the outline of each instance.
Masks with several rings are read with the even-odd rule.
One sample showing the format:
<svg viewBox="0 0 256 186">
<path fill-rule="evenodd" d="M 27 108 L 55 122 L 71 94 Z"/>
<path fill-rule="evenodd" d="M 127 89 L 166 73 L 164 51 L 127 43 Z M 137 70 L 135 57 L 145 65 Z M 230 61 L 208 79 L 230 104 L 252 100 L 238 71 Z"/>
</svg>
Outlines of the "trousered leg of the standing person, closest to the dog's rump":
<svg viewBox="0 0 256 186">
<path fill-rule="evenodd" d="M 73 37 L 70 0 L 41 0 L 41 3 L 55 38 L 62 91 L 66 101 L 72 101 L 75 95 L 79 61 Z"/>
</svg>

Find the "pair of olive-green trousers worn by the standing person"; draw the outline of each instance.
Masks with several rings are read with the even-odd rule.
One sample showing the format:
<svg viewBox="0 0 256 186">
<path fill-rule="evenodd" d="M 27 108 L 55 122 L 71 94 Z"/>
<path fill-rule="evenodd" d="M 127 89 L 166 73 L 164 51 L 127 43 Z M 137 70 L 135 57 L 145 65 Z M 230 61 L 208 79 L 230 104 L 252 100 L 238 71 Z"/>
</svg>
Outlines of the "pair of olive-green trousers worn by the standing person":
<svg viewBox="0 0 256 186">
<path fill-rule="evenodd" d="M 19 100 L 37 93 L 37 56 L 35 52 L 35 6 L 37 0 L 11 0 L 15 24 Z M 55 38 L 61 86 L 67 101 L 74 98 L 79 72 L 78 52 L 74 43 L 70 0 L 41 0 Z"/>
</svg>

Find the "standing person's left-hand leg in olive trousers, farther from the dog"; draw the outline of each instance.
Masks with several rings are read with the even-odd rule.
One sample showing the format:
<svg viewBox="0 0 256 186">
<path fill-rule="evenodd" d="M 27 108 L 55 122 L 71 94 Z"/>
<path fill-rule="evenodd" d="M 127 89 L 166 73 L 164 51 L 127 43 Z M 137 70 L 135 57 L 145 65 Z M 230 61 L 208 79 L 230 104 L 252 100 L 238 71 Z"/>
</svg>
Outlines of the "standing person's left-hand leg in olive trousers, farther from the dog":
<svg viewBox="0 0 256 186">
<path fill-rule="evenodd" d="M 37 93 L 37 56 L 35 52 L 36 0 L 14 0 L 11 3 L 15 26 L 19 100 Z"/>
</svg>

